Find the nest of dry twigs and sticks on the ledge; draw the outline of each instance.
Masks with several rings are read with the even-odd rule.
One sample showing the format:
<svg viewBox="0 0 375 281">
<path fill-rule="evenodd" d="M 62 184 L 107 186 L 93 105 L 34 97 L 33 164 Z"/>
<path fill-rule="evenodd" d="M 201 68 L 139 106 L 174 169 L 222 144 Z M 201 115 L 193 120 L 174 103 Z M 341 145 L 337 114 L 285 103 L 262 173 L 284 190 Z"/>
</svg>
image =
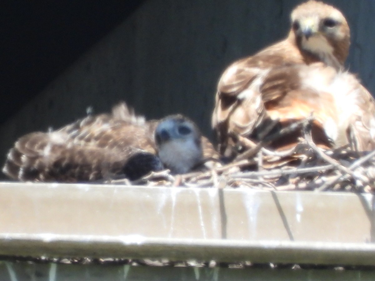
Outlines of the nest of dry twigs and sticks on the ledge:
<svg viewBox="0 0 375 281">
<path fill-rule="evenodd" d="M 151 172 L 136 180 L 107 180 L 111 184 L 171 187 L 247 187 L 257 190 L 317 190 L 371 192 L 375 188 L 375 151 L 358 151 L 354 141 L 336 149 L 321 149 L 312 140 L 314 118 L 297 121 L 247 147 L 231 163 L 203 172 L 172 175 L 169 170 Z M 276 123 L 276 121 L 275 121 Z M 271 124 L 270 132 L 275 123 Z M 287 151 L 267 149 L 267 144 L 299 130 L 301 138 Z M 215 161 L 210 159 L 208 161 Z M 298 163 L 298 164 L 296 164 Z M 215 166 L 215 165 L 213 165 Z"/>
</svg>

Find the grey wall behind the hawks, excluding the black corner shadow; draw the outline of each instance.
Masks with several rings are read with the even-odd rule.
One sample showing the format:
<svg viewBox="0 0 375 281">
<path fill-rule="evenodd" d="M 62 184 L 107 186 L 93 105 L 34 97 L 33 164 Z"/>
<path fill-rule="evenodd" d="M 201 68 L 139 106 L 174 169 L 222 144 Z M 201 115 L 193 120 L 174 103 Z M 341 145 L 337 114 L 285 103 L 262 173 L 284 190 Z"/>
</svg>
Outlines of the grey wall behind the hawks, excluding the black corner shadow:
<svg viewBox="0 0 375 281">
<path fill-rule="evenodd" d="M 180 112 L 211 136 L 216 82 L 231 61 L 287 34 L 296 0 L 149 0 L 0 127 L 0 155 L 25 133 L 54 129 L 120 100 L 148 118 Z M 347 16 L 347 66 L 375 93 L 375 1 L 330 3 Z M 72 31 L 73 32 L 73 31 Z M 3 158 L 1 163 L 3 163 Z"/>
</svg>

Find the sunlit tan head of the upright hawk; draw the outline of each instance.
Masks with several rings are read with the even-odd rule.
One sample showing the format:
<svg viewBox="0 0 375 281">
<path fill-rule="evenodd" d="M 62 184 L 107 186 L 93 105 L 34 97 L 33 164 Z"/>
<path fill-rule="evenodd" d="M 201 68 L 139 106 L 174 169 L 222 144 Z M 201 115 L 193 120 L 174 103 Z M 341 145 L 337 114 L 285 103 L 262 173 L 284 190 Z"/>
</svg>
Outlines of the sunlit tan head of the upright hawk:
<svg viewBox="0 0 375 281">
<path fill-rule="evenodd" d="M 315 0 L 300 4 L 291 13 L 290 34 L 301 51 L 336 69 L 344 65 L 350 30 L 344 15 L 335 7 Z"/>
</svg>

